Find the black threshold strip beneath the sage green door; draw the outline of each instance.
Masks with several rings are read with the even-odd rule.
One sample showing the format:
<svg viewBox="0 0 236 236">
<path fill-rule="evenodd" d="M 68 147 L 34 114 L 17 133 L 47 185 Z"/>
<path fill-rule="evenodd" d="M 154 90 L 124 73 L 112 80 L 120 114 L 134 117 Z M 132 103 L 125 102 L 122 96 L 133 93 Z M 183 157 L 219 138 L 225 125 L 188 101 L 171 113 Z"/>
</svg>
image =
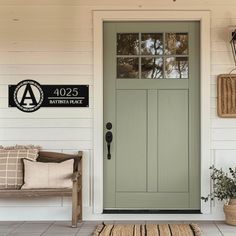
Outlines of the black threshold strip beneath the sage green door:
<svg viewBox="0 0 236 236">
<path fill-rule="evenodd" d="M 121 210 L 121 209 L 104 209 L 103 214 L 201 214 L 200 210 Z"/>
</svg>

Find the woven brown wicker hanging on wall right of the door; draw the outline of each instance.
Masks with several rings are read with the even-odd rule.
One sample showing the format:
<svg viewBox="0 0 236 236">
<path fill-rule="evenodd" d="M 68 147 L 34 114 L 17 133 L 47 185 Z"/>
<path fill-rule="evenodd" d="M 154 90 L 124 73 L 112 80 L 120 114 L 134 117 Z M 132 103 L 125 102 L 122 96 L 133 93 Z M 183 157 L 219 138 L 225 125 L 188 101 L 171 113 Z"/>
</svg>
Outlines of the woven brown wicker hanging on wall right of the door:
<svg viewBox="0 0 236 236">
<path fill-rule="evenodd" d="M 220 117 L 236 117 L 236 74 L 219 75 L 217 79 L 217 112 Z"/>
</svg>

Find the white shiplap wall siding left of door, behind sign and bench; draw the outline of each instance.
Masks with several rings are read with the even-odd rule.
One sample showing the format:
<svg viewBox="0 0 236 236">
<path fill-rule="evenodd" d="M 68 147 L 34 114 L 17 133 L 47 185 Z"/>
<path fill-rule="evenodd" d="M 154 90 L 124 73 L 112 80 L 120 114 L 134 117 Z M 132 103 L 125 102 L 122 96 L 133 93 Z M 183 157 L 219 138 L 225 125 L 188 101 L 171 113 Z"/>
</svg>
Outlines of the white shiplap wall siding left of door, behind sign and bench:
<svg viewBox="0 0 236 236">
<path fill-rule="evenodd" d="M 92 204 L 92 32 L 88 9 L 0 7 L 0 144 L 35 144 L 65 153 L 83 150 L 87 207 Z M 25 79 L 88 84 L 89 108 L 41 108 L 31 114 L 8 108 L 8 85 Z M 0 219 L 70 219 L 70 205 L 70 198 L 0 199 Z"/>
</svg>

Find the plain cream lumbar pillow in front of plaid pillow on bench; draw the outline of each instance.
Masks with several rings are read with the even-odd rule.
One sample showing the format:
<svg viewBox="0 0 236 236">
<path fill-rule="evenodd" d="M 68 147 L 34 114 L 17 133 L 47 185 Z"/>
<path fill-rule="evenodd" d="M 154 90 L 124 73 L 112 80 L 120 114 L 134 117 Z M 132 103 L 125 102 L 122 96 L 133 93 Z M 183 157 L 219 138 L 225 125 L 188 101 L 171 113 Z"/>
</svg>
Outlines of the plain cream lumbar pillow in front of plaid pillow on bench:
<svg viewBox="0 0 236 236">
<path fill-rule="evenodd" d="M 24 161 L 24 185 L 22 189 L 72 188 L 74 160 L 61 163 Z"/>
</svg>

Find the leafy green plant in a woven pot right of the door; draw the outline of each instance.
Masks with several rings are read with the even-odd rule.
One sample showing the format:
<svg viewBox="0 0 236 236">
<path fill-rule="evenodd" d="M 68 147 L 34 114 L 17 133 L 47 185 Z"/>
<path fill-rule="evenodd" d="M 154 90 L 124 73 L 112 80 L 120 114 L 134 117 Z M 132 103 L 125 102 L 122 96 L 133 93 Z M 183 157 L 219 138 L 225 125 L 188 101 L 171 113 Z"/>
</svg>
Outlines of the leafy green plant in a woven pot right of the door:
<svg viewBox="0 0 236 236">
<path fill-rule="evenodd" d="M 224 213 L 226 223 L 236 226 L 236 168 L 229 168 L 229 173 L 211 166 L 213 191 L 207 197 L 201 197 L 205 202 L 217 198 L 225 201 Z"/>
</svg>

